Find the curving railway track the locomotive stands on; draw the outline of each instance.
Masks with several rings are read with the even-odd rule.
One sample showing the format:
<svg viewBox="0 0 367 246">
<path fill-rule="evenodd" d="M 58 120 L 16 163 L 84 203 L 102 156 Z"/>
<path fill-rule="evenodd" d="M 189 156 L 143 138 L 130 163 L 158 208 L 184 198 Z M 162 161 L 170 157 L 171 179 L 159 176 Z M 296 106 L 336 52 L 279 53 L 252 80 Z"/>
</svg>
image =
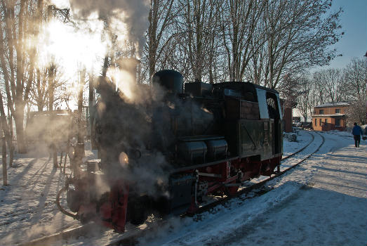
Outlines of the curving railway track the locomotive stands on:
<svg viewBox="0 0 367 246">
<path fill-rule="evenodd" d="M 314 155 L 316 152 L 319 151 L 319 149 L 321 148 L 321 146 L 325 142 L 325 138 L 317 132 L 314 132 L 314 134 L 311 134 L 310 132 L 308 132 L 308 133 L 312 136 L 311 141 L 309 141 L 309 143 L 307 143 L 307 145 L 300 148 L 300 150 L 296 151 L 295 153 L 292 153 L 291 155 L 287 155 L 286 157 L 283 157 L 282 162 L 285 161 L 285 160 L 288 160 L 291 157 L 297 156 L 299 153 L 302 153 L 303 150 L 305 150 L 307 147 L 309 147 L 309 145 L 311 145 L 314 142 L 314 134 L 317 134 L 317 135 L 321 136 L 322 142 L 319 144 L 319 146 L 316 148 L 316 150 L 314 150 L 312 153 L 310 153 L 309 155 L 306 155 L 305 157 L 302 157 L 301 160 L 299 160 L 295 164 L 292 164 L 291 167 L 286 167 L 285 169 L 277 172 L 276 174 L 270 176 L 267 179 L 263 179 L 262 181 L 259 181 L 258 183 L 253 183 L 253 184 L 251 184 L 251 186 L 242 186 L 239 189 L 239 191 L 234 195 L 227 196 L 225 198 L 221 198 L 220 200 L 216 200 L 215 202 L 211 202 L 207 205 L 203 205 L 202 207 L 200 207 L 196 211 L 196 214 L 201 214 L 203 212 L 209 211 L 210 209 L 212 209 L 215 206 L 224 205 L 226 202 L 228 202 L 229 200 L 231 200 L 233 198 L 239 197 L 240 195 L 243 195 L 245 193 L 249 193 L 252 190 L 259 189 L 262 186 L 265 186 L 265 183 L 267 183 L 268 181 L 271 181 L 272 179 L 275 179 L 276 177 L 279 177 L 279 176 L 285 174 L 287 171 L 297 167 L 299 164 L 301 164 L 305 160 L 309 159 L 309 157 L 312 157 L 312 155 Z M 187 216 L 187 214 L 183 214 L 182 216 Z M 165 221 L 158 221 L 156 223 L 164 224 Z M 95 227 L 97 227 L 96 224 L 89 223 L 89 224 L 86 224 L 86 225 L 83 225 L 83 226 L 78 226 L 76 228 L 66 229 L 65 231 L 62 231 L 60 233 L 55 233 L 53 235 L 48 235 L 48 236 L 45 236 L 43 238 L 39 238 L 39 239 L 36 239 L 36 240 L 25 242 L 25 243 L 22 243 L 18 246 L 58 245 L 58 243 L 56 243 L 56 242 L 67 240 L 69 238 L 77 238 L 81 235 L 87 235 L 88 232 L 95 230 Z M 148 233 L 149 231 L 156 230 L 156 228 L 159 228 L 159 227 L 160 226 L 156 226 L 156 225 L 152 226 L 152 227 L 147 226 L 147 228 L 145 228 L 143 230 L 136 230 L 136 231 L 133 231 L 133 232 L 129 232 L 129 233 L 127 233 L 128 235 L 125 235 L 126 233 L 124 233 L 124 234 L 120 235 L 119 237 L 117 237 L 116 239 L 109 242 L 106 246 L 135 245 L 138 242 L 138 238 L 140 238 L 145 233 Z"/>
</svg>

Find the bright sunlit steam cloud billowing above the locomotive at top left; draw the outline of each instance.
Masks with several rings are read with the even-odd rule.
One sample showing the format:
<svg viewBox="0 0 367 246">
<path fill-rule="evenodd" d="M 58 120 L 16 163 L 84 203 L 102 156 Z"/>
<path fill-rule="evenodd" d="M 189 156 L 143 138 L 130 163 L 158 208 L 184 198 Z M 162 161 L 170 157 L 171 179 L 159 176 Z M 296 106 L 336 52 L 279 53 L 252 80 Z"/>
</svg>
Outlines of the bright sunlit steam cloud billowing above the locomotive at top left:
<svg viewBox="0 0 367 246">
<path fill-rule="evenodd" d="M 48 16 L 36 33 L 27 36 L 25 48 L 36 51 L 36 67 L 58 64 L 69 79 L 82 69 L 99 74 L 105 56 L 117 50 L 140 58 L 149 25 L 148 0 L 51 0 L 46 4 L 71 12 L 62 20 Z"/>
</svg>

